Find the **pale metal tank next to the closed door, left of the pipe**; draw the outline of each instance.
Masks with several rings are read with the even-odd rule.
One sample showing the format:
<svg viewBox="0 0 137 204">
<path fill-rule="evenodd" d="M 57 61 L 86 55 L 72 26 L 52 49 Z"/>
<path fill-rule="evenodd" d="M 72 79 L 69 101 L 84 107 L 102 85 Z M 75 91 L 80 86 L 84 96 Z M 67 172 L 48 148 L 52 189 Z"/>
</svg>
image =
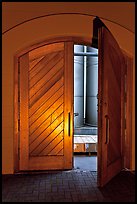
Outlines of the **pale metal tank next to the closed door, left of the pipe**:
<svg viewBox="0 0 137 204">
<path fill-rule="evenodd" d="M 74 45 L 74 53 L 84 52 L 83 45 Z M 74 54 L 74 128 L 84 125 L 84 57 Z"/>
</svg>

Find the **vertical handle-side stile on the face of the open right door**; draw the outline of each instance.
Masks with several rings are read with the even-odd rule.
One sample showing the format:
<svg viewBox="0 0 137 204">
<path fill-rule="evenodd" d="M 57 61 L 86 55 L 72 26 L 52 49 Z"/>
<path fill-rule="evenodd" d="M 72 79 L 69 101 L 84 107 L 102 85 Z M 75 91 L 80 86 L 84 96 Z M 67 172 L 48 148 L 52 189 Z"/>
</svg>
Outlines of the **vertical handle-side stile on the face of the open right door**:
<svg viewBox="0 0 137 204">
<path fill-rule="evenodd" d="M 102 94 L 102 99 L 101 99 L 101 106 L 102 106 L 102 111 L 101 111 L 101 120 L 102 120 L 102 130 L 101 130 L 101 135 L 100 137 L 102 138 L 101 139 L 101 148 L 102 148 L 102 151 L 101 151 L 101 182 L 100 182 L 100 186 L 103 186 L 107 181 L 108 181 L 108 168 L 109 168 L 109 165 L 108 165 L 108 144 L 106 143 L 106 118 L 105 116 L 108 115 L 108 86 L 109 86 L 109 82 L 108 82 L 108 69 L 107 68 L 104 68 L 106 66 L 106 61 L 108 60 L 108 56 L 106 55 L 106 51 L 104 51 L 106 49 L 106 38 L 108 37 L 107 36 L 107 33 L 105 31 L 105 27 L 102 27 L 101 28 L 101 35 L 102 37 L 102 44 L 101 44 L 101 62 L 102 64 L 100 65 L 101 67 L 101 80 L 102 80 L 102 83 L 101 83 L 101 94 Z M 108 42 L 109 43 L 109 42 Z M 110 134 L 110 133 L 109 133 Z"/>
</svg>

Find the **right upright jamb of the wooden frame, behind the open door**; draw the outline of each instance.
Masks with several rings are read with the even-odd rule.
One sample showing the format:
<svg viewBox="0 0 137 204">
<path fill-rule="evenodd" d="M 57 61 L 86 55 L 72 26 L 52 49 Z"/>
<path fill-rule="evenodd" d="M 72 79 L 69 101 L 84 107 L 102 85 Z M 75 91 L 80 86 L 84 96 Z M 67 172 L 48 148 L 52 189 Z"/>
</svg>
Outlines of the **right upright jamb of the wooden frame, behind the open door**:
<svg viewBox="0 0 137 204">
<path fill-rule="evenodd" d="M 133 60 L 125 56 L 127 62 L 127 103 L 126 103 L 126 139 L 125 139 L 125 167 L 131 169 L 132 162 L 132 97 L 133 97 Z"/>
</svg>

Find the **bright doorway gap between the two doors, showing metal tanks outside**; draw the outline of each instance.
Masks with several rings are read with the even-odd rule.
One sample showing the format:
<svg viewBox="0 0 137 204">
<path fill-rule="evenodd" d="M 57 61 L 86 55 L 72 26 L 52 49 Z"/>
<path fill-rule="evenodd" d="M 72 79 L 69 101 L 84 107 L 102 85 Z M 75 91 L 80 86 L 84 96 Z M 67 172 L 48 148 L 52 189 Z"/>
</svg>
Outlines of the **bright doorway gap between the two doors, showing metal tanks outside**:
<svg viewBox="0 0 137 204">
<path fill-rule="evenodd" d="M 74 44 L 74 169 L 97 171 L 98 49 Z"/>
</svg>

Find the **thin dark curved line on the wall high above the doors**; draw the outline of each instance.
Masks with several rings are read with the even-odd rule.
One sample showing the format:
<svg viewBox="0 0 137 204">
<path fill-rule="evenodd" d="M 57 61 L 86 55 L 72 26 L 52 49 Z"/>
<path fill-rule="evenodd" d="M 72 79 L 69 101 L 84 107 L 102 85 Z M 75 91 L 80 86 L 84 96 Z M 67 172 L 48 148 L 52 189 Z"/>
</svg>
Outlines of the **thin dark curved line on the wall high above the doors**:
<svg viewBox="0 0 137 204">
<path fill-rule="evenodd" d="M 9 28 L 9 29 L 5 30 L 4 32 L 2 32 L 2 35 L 6 34 L 7 32 L 9 32 L 10 30 L 16 28 L 17 26 L 20 26 L 20 25 L 22 25 L 22 24 L 24 24 L 24 23 L 27 23 L 27 22 L 29 22 L 29 21 L 33 21 L 33 20 L 36 20 L 36 19 L 39 19 L 39 18 L 45 18 L 45 17 L 57 16 L 57 15 L 68 15 L 68 14 L 69 14 L 69 15 L 88 16 L 88 17 L 92 17 L 92 18 L 95 18 L 95 17 L 96 17 L 96 15 L 94 15 L 94 14 L 86 14 L 86 13 L 80 13 L 80 12 L 66 12 L 66 13 L 46 14 L 46 15 L 37 16 L 37 17 L 35 17 L 35 18 L 31 18 L 31 19 L 25 20 L 25 21 L 23 21 L 23 22 L 21 22 L 21 23 L 18 23 L 18 24 L 16 24 L 15 26 L 12 26 L 11 28 Z M 118 22 L 112 21 L 112 20 L 110 20 L 110 19 L 103 18 L 103 17 L 101 17 L 101 16 L 98 16 L 98 17 L 99 17 L 100 19 L 102 19 L 102 20 L 105 20 L 105 21 L 108 21 L 108 22 L 117 24 L 117 25 L 123 27 L 124 29 L 126 29 L 126 30 L 128 30 L 129 32 L 131 32 L 131 33 L 134 34 L 134 32 L 133 32 L 131 29 L 129 29 L 129 28 L 127 28 L 127 27 L 121 25 L 121 24 L 118 23 Z"/>
</svg>

